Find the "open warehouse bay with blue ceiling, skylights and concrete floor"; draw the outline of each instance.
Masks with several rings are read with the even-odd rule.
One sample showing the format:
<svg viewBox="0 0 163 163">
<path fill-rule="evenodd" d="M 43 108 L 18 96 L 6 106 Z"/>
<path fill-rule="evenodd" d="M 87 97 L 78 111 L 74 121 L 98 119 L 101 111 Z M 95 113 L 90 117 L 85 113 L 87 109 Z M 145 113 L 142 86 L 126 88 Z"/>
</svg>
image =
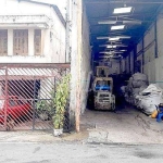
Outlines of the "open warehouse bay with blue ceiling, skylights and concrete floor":
<svg viewBox="0 0 163 163">
<path fill-rule="evenodd" d="M 155 87 L 155 90 L 163 88 L 158 60 L 162 60 L 160 35 L 163 26 L 163 1 L 84 0 L 84 5 L 89 24 L 92 61 L 92 72 L 86 80 L 90 82 L 89 90 L 93 91 L 89 91 L 92 99 L 88 95 L 88 101 L 93 102 L 88 104 L 88 110 L 82 117 L 82 126 L 86 125 L 93 131 L 106 131 L 104 138 L 110 142 L 152 142 L 154 138 L 153 142 L 162 142 L 163 125 L 156 118 L 149 117 L 152 112 L 143 113 L 146 110 L 142 105 L 139 108 L 140 104 L 138 106 L 135 95 L 139 96 L 151 84 L 154 84 L 152 88 Z M 84 33 L 85 30 L 83 27 Z M 97 77 L 103 77 L 97 73 L 97 67 L 100 66 L 109 68 L 109 74 L 104 77 L 113 80 L 115 112 L 95 111 L 93 98 L 100 87 L 93 85 L 93 82 Z M 102 90 L 104 89 L 110 88 L 104 85 Z M 82 96 L 83 92 L 82 90 Z M 101 95 L 102 98 L 105 96 Z"/>
</svg>

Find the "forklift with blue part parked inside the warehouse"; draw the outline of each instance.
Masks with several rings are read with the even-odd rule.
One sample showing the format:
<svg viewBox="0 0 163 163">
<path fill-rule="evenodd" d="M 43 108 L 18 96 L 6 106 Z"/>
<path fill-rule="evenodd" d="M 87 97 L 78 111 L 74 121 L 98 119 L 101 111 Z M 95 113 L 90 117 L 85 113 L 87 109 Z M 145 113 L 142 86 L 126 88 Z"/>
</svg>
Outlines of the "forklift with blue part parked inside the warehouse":
<svg viewBox="0 0 163 163">
<path fill-rule="evenodd" d="M 92 83 L 95 110 L 115 110 L 113 79 L 108 76 L 108 66 L 97 66 L 96 77 Z"/>
</svg>

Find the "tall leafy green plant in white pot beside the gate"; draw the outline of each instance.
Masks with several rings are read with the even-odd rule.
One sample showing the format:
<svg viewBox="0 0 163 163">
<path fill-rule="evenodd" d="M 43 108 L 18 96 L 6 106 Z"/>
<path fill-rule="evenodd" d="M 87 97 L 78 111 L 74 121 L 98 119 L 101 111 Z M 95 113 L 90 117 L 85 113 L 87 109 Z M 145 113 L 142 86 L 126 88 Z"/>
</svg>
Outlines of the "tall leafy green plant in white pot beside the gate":
<svg viewBox="0 0 163 163">
<path fill-rule="evenodd" d="M 66 75 L 63 77 L 61 83 L 58 84 L 52 101 L 52 108 L 55 109 L 55 113 L 52 117 L 54 136 L 60 136 L 63 134 L 65 109 L 70 95 L 70 75 Z"/>
</svg>

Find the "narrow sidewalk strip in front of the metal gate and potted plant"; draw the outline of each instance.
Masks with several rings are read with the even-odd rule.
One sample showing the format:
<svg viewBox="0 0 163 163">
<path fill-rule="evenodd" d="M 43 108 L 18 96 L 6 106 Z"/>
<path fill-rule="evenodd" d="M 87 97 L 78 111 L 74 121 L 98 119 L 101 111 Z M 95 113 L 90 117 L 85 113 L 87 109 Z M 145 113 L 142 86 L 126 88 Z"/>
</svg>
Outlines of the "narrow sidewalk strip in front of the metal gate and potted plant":
<svg viewBox="0 0 163 163">
<path fill-rule="evenodd" d="M 54 142 L 54 141 L 82 141 L 88 138 L 88 131 L 63 134 L 54 137 L 52 131 L 0 131 L 0 142 Z"/>
</svg>

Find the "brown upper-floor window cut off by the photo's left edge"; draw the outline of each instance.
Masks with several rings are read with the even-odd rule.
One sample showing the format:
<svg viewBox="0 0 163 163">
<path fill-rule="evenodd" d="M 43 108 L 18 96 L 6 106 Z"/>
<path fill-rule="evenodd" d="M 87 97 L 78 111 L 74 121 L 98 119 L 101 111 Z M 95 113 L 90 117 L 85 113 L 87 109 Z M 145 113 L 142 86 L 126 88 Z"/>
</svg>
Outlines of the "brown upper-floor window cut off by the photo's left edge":
<svg viewBox="0 0 163 163">
<path fill-rule="evenodd" d="M 8 30 L 0 29 L 0 55 L 8 54 Z"/>
</svg>

